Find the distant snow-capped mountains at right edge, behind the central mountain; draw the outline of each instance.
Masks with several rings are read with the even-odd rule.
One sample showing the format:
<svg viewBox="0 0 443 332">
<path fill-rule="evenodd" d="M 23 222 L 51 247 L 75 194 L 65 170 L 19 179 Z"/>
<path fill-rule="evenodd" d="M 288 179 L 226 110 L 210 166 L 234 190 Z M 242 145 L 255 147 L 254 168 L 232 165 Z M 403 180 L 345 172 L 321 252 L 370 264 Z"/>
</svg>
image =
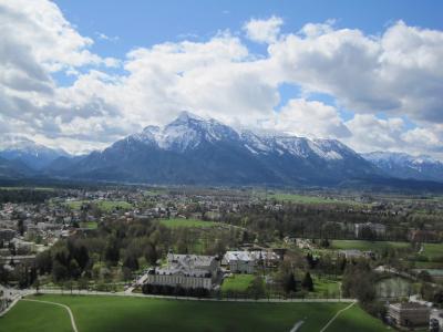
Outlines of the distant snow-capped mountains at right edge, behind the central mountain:
<svg viewBox="0 0 443 332">
<path fill-rule="evenodd" d="M 390 176 L 443 181 L 443 163 L 430 156 L 374 152 L 362 156 Z"/>
</svg>

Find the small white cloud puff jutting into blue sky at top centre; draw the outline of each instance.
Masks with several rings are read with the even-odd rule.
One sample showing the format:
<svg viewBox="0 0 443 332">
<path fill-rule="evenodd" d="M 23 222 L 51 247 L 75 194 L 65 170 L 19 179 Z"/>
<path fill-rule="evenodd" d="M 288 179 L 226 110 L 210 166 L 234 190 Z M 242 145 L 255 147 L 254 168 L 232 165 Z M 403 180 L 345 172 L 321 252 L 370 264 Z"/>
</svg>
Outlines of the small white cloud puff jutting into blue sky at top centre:
<svg viewBox="0 0 443 332">
<path fill-rule="evenodd" d="M 243 29 L 251 41 L 272 43 L 277 40 L 282 24 L 284 20 L 281 18 L 270 17 L 267 20 L 251 19 L 244 24 Z"/>
</svg>

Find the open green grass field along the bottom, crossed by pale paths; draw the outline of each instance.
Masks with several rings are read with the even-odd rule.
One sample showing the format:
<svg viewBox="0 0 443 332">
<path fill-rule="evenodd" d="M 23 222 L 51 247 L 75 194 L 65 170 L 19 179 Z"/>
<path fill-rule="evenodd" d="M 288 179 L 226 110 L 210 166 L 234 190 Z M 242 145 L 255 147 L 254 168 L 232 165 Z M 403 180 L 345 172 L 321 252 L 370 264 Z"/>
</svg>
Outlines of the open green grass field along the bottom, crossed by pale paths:
<svg viewBox="0 0 443 332">
<path fill-rule="evenodd" d="M 303 320 L 300 332 L 319 331 L 349 303 L 243 303 L 177 301 L 122 297 L 40 295 L 33 299 L 66 304 L 79 332 L 288 332 Z M 384 331 L 381 322 L 354 305 L 327 332 Z M 62 308 L 20 301 L 0 319 L 0 332 L 71 331 Z"/>
</svg>

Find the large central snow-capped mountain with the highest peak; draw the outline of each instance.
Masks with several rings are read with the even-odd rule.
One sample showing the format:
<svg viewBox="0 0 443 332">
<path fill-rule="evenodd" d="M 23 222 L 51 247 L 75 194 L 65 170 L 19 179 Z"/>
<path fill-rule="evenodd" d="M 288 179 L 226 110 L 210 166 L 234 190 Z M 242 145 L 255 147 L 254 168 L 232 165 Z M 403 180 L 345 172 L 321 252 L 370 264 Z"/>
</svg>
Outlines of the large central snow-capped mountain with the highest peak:
<svg viewBox="0 0 443 332">
<path fill-rule="evenodd" d="M 378 174 L 334 139 L 236 131 L 183 112 L 66 167 L 75 178 L 162 184 L 333 185 Z"/>
</svg>

